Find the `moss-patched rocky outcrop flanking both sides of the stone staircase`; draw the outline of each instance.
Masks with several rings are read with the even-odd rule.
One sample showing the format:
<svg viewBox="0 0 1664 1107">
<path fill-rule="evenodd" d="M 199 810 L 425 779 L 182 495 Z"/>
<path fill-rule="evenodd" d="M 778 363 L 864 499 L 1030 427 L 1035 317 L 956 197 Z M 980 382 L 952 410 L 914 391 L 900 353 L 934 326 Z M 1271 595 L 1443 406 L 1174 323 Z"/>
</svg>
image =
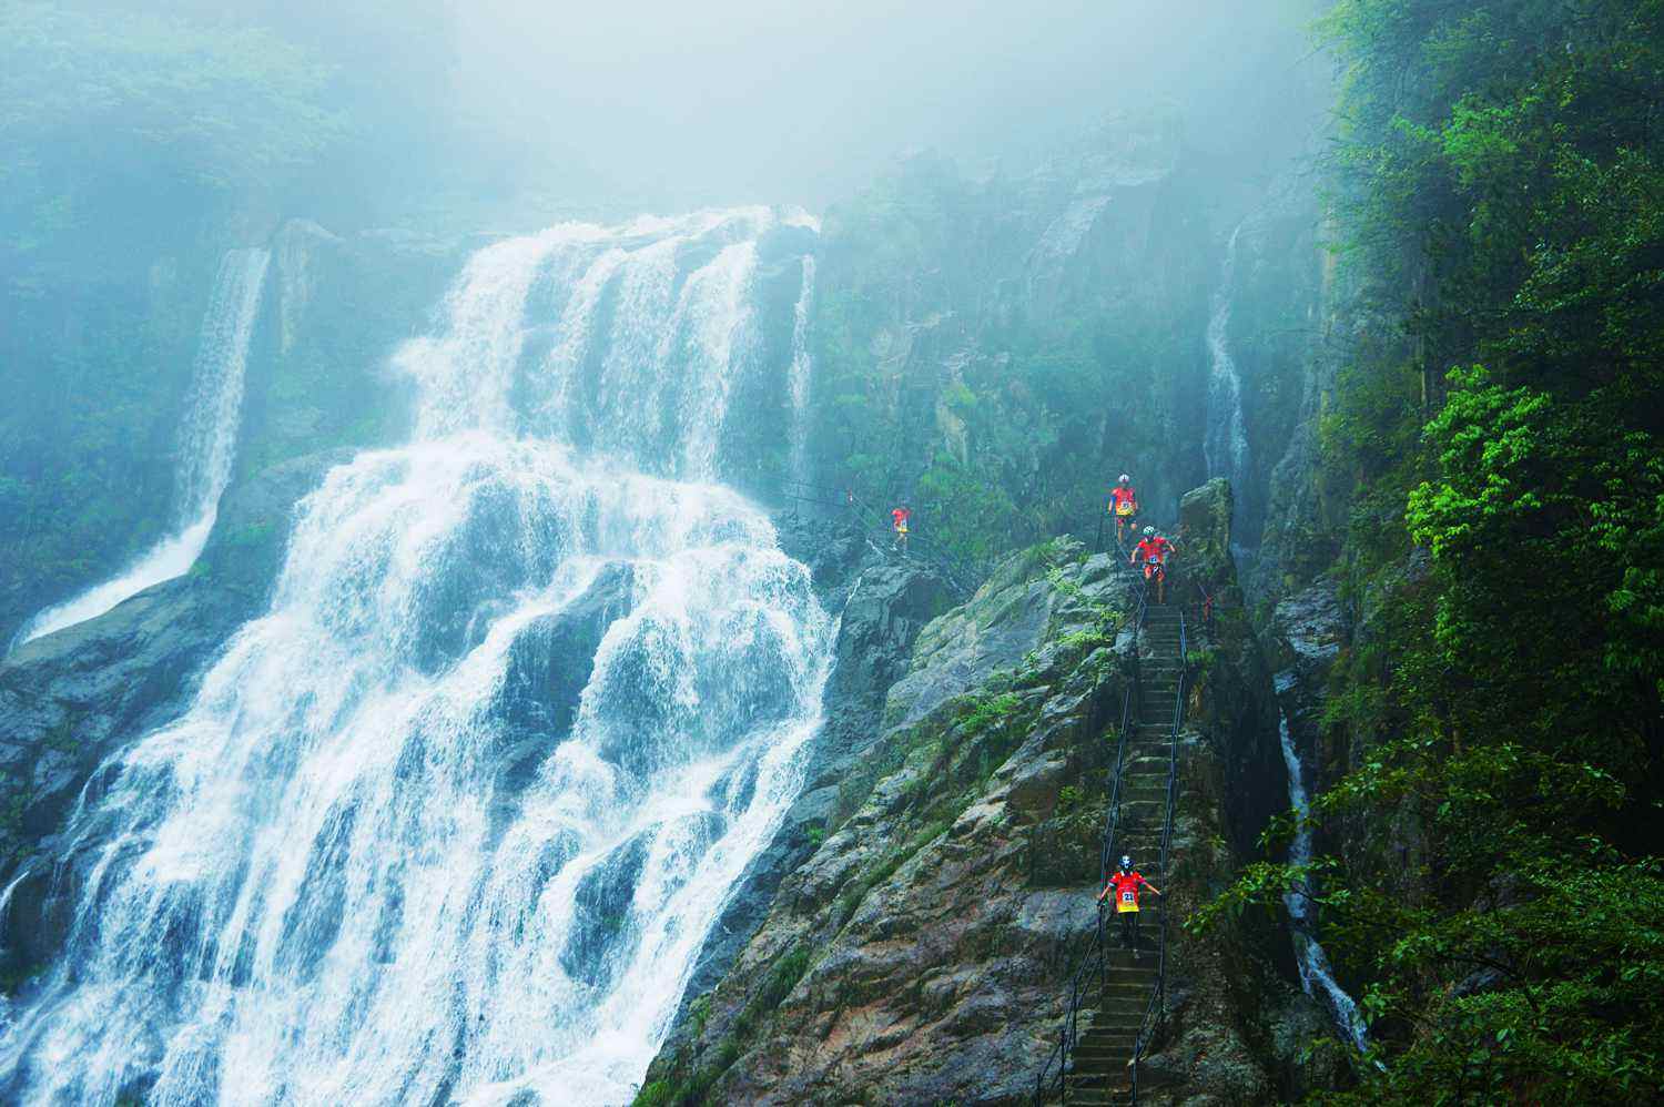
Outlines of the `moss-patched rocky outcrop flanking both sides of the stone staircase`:
<svg viewBox="0 0 1664 1107">
<path fill-rule="evenodd" d="M 1218 516 L 1221 491 L 1198 519 Z M 812 851 L 779 881 L 732 969 L 684 1004 L 637 1102 L 1033 1094 L 1063 980 L 1095 926 L 1117 727 L 1142 648 L 1137 588 L 1110 558 L 1055 543 L 1007 561 L 919 633 L 882 709 L 840 719 L 845 741 L 865 739 L 810 784 Z M 1191 649 L 1175 919 L 1286 802 L 1253 638 L 1215 621 Z M 1273 936 L 1193 939 L 1173 926 L 1170 937 L 1171 1015 L 1153 1070 L 1215 1097 L 1198 1102 L 1266 1097 L 1278 1047 L 1256 1027 L 1266 995 L 1290 999 L 1258 987 L 1275 980 Z"/>
</svg>

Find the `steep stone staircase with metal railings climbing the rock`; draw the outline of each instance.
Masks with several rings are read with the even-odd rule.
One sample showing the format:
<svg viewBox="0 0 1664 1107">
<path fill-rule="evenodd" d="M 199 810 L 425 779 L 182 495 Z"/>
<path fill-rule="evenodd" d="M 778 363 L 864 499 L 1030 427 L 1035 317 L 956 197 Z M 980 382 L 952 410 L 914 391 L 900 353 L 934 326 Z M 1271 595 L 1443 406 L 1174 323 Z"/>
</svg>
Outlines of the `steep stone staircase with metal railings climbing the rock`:
<svg viewBox="0 0 1664 1107">
<path fill-rule="evenodd" d="M 1161 887 L 1161 831 L 1166 819 L 1166 774 L 1173 737 L 1173 709 L 1183 669 L 1180 661 L 1178 606 L 1151 603 L 1145 613 L 1143 661 L 1138 697 L 1133 704 L 1127 761 L 1122 766 L 1122 816 L 1115 852 L 1128 854 L 1151 884 Z M 1068 1077 L 1070 1104 L 1125 1104 L 1132 1090 L 1128 1065 L 1145 1010 L 1156 985 L 1156 936 L 1163 904 L 1145 896 L 1140 912 L 1138 949 L 1120 946 L 1120 921 L 1107 917 L 1110 946 L 1103 1000 L 1083 1012 L 1085 1029 L 1075 1045 Z"/>
</svg>

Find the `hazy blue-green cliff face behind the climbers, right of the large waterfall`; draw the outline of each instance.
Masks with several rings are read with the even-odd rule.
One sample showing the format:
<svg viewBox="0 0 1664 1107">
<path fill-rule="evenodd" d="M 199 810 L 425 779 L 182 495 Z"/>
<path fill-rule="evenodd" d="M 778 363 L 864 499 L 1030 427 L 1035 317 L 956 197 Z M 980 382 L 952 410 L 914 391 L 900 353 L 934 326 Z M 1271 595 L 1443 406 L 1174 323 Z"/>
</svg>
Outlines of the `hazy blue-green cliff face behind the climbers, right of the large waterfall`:
<svg viewBox="0 0 1664 1107">
<path fill-rule="evenodd" d="M 1303 140 L 1280 141 L 1281 166 Z M 1303 405 L 1326 268 L 1308 173 L 1301 160 L 1248 178 L 1168 115 L 1105 123 L 1027 173 L 905 161 L 825 218 L 822 478 L 914 494 L 920 524 L 967 548 L 1092 539 L 1120 471 L 1171 523 L 1210 476 L 1223 321 L 1251 459 L 1235 474 L 1238 544 L 1258 546 L 1273 468 L 1316 418 Z"/>
</svg>

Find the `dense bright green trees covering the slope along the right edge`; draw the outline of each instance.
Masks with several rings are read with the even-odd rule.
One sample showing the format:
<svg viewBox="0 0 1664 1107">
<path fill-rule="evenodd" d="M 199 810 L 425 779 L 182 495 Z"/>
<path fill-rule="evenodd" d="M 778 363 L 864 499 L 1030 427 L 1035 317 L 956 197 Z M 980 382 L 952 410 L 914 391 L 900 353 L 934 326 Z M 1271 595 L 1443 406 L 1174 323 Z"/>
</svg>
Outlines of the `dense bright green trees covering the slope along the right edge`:
<svg viewBox="0 0 1664 1107">
<path fill-rule="evenodd" d="M 1379 1062 L 1333 1102 L 1652 1100 L 1664 3 L 1340 0 L 1321 27 L 1335 208 L 1388 321 L 1323 426 L 1371 633 L 1323 719 L 1361 752 L 1311 817 L 1350 847 L 1253 866 L 1193 924 L 1315 889 Z"/>
</svg>

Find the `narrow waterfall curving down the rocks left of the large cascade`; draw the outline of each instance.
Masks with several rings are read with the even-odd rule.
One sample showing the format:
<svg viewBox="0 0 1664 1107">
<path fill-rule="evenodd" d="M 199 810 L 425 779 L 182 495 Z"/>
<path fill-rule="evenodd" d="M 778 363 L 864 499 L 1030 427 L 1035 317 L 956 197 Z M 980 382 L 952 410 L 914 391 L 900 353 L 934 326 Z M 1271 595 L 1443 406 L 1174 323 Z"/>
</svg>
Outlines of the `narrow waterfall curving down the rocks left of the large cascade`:
<svg viewBox="0 0 1664 1107">
<path fill-rule="evenodd" d="M 243 373 L 270 261 L 266 250 L 233 250 L 220 263 L 180 433 L 173 533 L 118 578 L 37 614 L 18 636 L 18 644 L 95 619 L 128 596 L 183 576 L 196 564 L 213 531 L 220 496 L 231 481 L 236 431 L 243 418 Z"/>
</svg>

